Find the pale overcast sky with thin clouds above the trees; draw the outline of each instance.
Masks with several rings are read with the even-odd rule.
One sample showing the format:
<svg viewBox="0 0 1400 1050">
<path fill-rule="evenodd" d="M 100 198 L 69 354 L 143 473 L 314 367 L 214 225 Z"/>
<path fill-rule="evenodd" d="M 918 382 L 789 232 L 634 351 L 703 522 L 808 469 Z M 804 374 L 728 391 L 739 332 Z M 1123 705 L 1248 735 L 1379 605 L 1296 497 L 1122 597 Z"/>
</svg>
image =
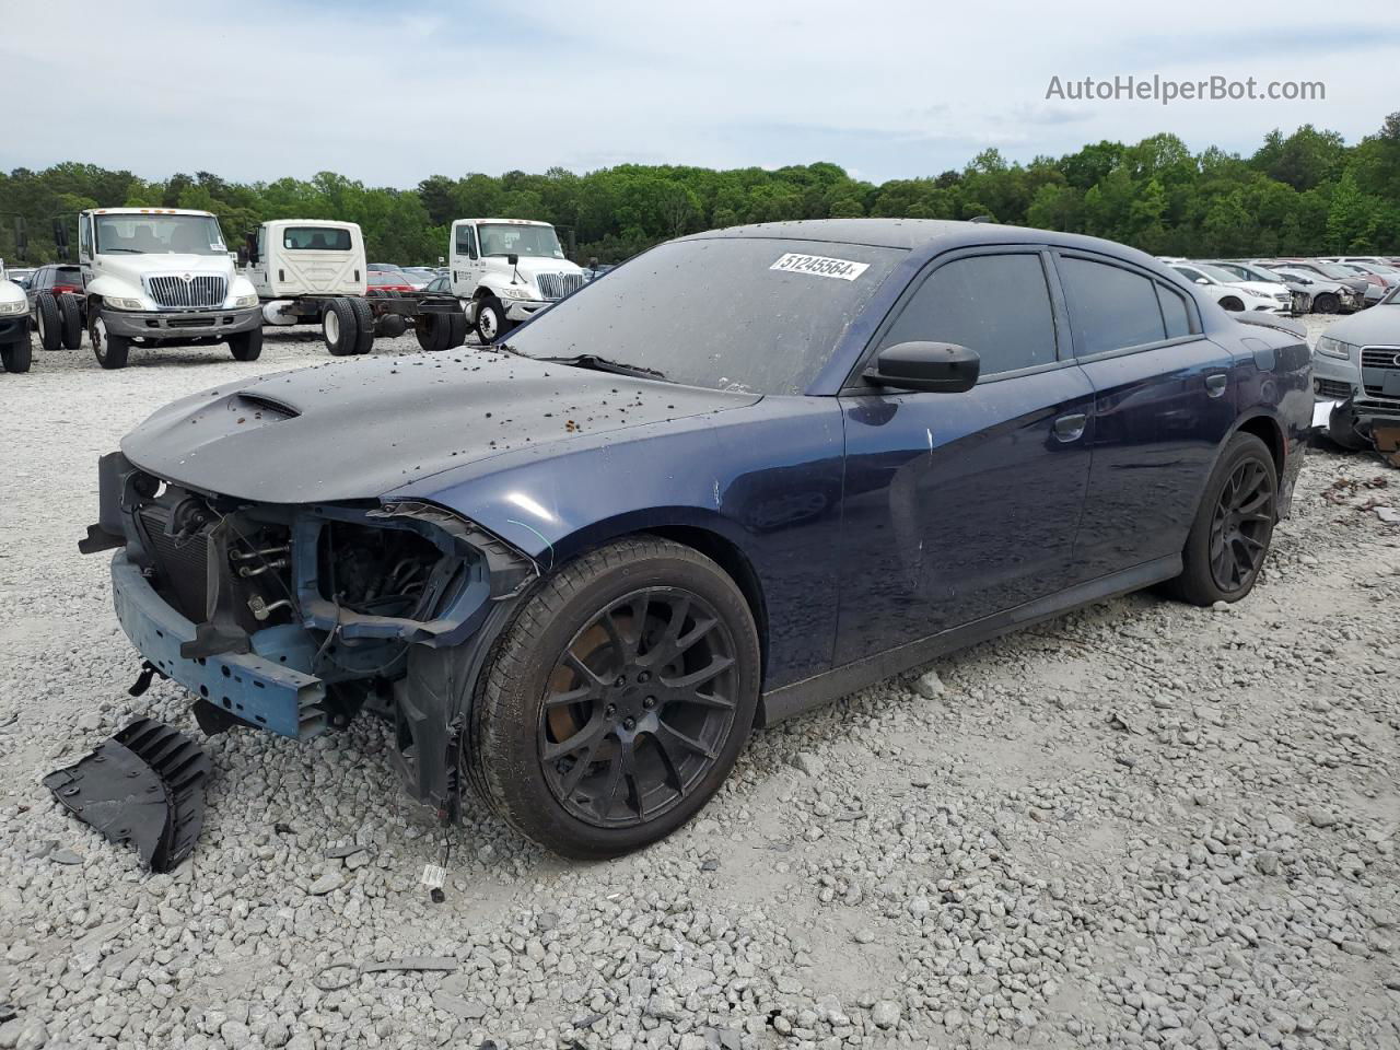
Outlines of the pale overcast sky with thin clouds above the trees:
<svg viewBox="0 0 1400 1050">
<path fill-rule="evenodd" d="M 237 181 L 330 169 L 412 186 L 433 174 L 552 165 L 825 160 L 879 182 L 960 168 L 988 146 L 1026 161 L 1175 132 L 1193 150 L 1247 154 L 1268 129 L 1308 122 L 1355 141 L 1400 109 L 1400 20 L 1382 4 L 202 7 L 0 0 L 13 111 L 0 168 L 74 160 Z M 1046 99 L 1054 76 L 1116 74 L 1323 81 L 1327 97 Z"/>
</svg>

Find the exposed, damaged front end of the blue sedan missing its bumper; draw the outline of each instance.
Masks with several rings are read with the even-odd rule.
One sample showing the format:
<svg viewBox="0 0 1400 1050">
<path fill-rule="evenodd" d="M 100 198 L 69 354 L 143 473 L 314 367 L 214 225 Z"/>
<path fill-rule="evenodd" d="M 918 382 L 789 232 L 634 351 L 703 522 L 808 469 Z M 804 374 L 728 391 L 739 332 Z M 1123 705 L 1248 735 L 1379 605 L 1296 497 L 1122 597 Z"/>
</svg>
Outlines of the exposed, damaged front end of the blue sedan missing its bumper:
<svg viewBox="0 0 1400 1050">
<path fill-rule="evenodd" d="M 118 549 L 118 620 L 151 672 L 197 697 L 206 732 L 309 739 L 368 710 L 393 721 L 410 792 L 456 815 L 470 683 L 444 668 L 468 654 L 475 680 L 538 574 L 526 556 L 433 504 L 251 504 L 120 452 L 99 462 L 99 500 L 78 547 Z M 414 686 L 444 678 L 447 692 Z"/>
</svg>

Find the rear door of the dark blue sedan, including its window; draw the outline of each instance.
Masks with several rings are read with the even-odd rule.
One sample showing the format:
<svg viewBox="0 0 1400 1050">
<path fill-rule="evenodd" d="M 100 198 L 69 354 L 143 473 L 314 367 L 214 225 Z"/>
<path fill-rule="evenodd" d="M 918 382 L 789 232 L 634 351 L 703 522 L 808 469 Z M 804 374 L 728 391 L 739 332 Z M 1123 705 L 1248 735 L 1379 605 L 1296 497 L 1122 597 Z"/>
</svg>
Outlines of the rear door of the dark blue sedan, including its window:
<svg viewBox="0 0 1400 1050">
<path fill-rule="evenodd" d="M 1194 300 L 1145 269 L 1056 253 L 1074 353 L 1093 385 L 1093 466 L 1077 582 L 1179 554 L 1235 421 L 1233 356 L 1201 335 Z"/>
</svg>

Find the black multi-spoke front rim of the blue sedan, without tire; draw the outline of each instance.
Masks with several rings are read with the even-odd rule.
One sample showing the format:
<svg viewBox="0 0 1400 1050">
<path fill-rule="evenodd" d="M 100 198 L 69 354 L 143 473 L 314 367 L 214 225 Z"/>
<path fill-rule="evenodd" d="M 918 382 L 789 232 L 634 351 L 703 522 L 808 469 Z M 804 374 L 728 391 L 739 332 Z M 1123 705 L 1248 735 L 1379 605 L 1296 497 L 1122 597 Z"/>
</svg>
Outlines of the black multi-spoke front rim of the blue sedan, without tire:
<svg viewBox="0 0 1400 1050">
<path fill-rule="evenodd" d="M 708 602 L 676 587 L 624 595 L 554 662 L 538 727 L 545 781 L 594 827 L 654 820 L 713 770 L 736 706 L 735 640 Z"/>
</svg>

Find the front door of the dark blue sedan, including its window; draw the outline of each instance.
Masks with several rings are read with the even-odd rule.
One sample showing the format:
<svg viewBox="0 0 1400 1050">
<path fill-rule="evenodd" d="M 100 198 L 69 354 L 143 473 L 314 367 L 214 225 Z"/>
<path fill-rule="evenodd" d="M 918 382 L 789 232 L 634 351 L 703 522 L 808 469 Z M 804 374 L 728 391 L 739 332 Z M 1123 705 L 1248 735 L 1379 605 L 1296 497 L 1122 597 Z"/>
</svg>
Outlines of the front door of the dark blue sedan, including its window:
<svg viewBox="0 0 1400 1050">
<path fill-rule="evenodd" d="M 1089 480 L 1093 389 L 1039 246 L 937 259 L 876 336 L 981 357 L 966 393 L 854 386 L 836 664 L 1065 587 Z"/>
</svg>

